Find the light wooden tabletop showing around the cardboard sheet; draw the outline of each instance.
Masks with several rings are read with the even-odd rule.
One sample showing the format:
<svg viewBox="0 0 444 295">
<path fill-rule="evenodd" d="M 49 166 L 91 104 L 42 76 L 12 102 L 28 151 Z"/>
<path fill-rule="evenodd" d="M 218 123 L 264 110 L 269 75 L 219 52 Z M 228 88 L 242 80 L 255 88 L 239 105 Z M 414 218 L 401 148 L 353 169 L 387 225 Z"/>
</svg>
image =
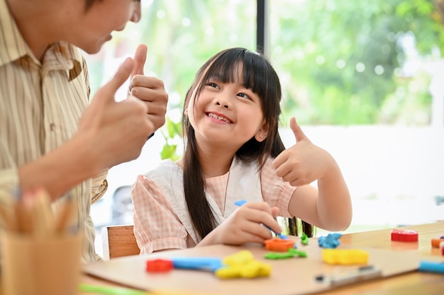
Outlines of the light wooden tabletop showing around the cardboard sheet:
<svg viewBox="0 0 444 295">
<path fill-rule="evenodd" d="M 392 229 L 383 229 L 378 231 L 367 231 L 362 233 L 349 233 L 340 238 L 341 245 L 352 248 L 377 248 L 383 250 L 394 250 L 396 252 L 416 253 L 424 255 L 424 258 L 431 258 L 444 262 L 444 258 L 440 255 L 439 250 L 431 248 L 431 239 L 444 236 L 444 221 L 433 224 L 423 224 L 418 226 L 406 226 L 401 229 L 412 229 L 418 231 L 418 243 L 401 243 L 392 242 L 390 233 Z M 314 239 L 313 239 L 314 240 Z M 311 243 L 316 243 L 312 241 Z M 210 246 L 213 247 L 213 246 Z M 211 253 L 208 249 L 202 249 L 203 255 Z M 213 248 L 211 248 L 213 249 Z M 241 249 L 241 248 L 240 248 Z M 170 253 L 167 251 L 165 253 Z M 139 256 L 129 256 L 129 260 L 136 260 Z M 121 259 L 121 258 L 116 258 Z M 274 272 L 274 270 L 273 270 Z M 121 284 L 110 282 L 98 277 L 92 277 L 84 274 L 82 282 L 88 284 L 100 284 L 104 286 L 121 287 Z M 292 282 L 287 282 L 291 284 Z M 215 288 L 215 291 L 216 288 Z M 248 290 L 245 290 L 245 294 Z M 426 272 L 406 272 L 404 274 L 395 275 L 381 279 L 374 279 L 370 282 L 360 282 L 344 287 L 339 287 L 330 291 L 321 291 L 316 294 L 333 294 L 333 295 L 408 295 L 408 294 L 444 294 L 444 275 Z M 6 295 L 6 294 L 4 294 Z M 87 293 L 79 292 L 79 295 L 87 295 Z M 92 295 L 92 294 L 89 294 Z"/>
</svg>

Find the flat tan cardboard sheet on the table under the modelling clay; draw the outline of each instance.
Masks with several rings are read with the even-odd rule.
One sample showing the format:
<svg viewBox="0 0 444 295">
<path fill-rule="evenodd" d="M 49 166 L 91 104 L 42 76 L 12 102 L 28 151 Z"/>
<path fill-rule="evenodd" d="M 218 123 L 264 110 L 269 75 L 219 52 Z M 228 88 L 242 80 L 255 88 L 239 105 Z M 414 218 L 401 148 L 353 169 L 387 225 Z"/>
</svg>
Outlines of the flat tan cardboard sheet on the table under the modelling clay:
<svg viewBox="0 0 444 295">
<path fill-rule="evenodd" d="M 296 242 L 298 240 L 295 240 Z M 171 250 L 152 255 L 114 258 L 106 262 L 86 265 L 84 272 L 112 282 L 147 291 L 185 291 L 189 294 L 277 294 L 298 295 L 313 294 L 335 288 L 329 284 L 316 282 L 319 274 L 331 274 L 356 269 L 357 266 L 327 265 L 322 262 L 322 248 L 317 239 L 310 239 L 309 245 L 300 245 L 298 250 L 305 250 L 307 258 L 284 260 L 266 260 L 265 253 L 270 251 L 262 246 L 251 245 L 235 247 L 212 245 L 204 248 Z M 340 246 L 339 248 L 345 248 Z M 152 274 L 145 271 L 146 261 L 154 258 L 172 257 L 217 257 L 223 258 L 240 250 L 250 250 L 255 259 L 272 265 L 270 277 L 255 279 L 219 279 L 211 272 L 196 270 L 172 270 L 167 273 Z M 411 272 L 418 269 L 421 255 L 410 252 L 395 252 L 373 248 L 360 248 L 370 254 L 369 265 L 382 270 L 382 277 Z M 423 258 L 423 257 L 422 257 Z"/>
</svg>

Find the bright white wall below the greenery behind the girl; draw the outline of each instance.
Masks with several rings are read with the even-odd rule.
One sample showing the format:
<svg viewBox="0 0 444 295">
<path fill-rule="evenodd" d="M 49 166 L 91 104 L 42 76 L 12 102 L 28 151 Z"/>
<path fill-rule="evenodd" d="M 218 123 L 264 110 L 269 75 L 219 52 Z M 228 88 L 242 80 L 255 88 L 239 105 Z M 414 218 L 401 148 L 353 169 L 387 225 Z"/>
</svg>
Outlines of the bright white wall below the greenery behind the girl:
<svg viewBox="0 0 444 295">
<path fill-rule="evenodd" d="M 338 161 L 353 198 L 353 225 L 396 226 L 444 219 L 444 204 L 436 206 L 434 201 L 436 195 L 444 196 L 444 129 L 387 126 L 302 126 L 302 129 L 314 144 L 329 151 Z M 286 146 L 294 144 L 291 130 L 282 130 L 281 134 Z M 138 174 L 160 163 L 163 143 L 162 135 L 157 132 L 137 160 L 110 170 L 110 187 L 104 196 L 107 201 L 118 186 L 131 185 Z"/>
</svg>

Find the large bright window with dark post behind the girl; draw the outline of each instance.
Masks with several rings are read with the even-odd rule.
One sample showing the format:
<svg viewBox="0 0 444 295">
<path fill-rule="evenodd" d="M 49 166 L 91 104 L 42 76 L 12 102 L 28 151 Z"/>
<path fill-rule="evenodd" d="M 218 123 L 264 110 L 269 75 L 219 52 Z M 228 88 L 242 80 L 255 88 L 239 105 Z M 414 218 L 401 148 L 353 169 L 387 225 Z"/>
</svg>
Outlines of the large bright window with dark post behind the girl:
<svg viewBox="0 0 444 295">
<path fill-rule="evenodd" d="M 266 53 L 284 90 L 284 141 L 294 144 L 287 125 L 296 116 L 306 135 L 336 158 L 353 197 L 350 230 L 442 217 L 444 26 L 439 7 L 428 0 L 265 3 Z M 148 45 L 145 74 L 165 81 L 167 116 L 174 124 L 206 59 L 227 47 L 256 49 L 257 1 L 142 5 L 140 23 L 128 24 L 100 54 L 88 57 L 91 85 L 94 91 L 107 81 L 143 42 Z M 126 86 L 118 99 L 125 96 Z M 140 158 L 111 169 L 103 201 L 109 208 L 118 187 L 131 185 L 161 161 L 165 142 L 178 144 L 180 152 L 180 140 L 169 138 L 166 128 L 148 141 Z M 94 206 L 93 219 L 99 220 Z"/>
</svg>

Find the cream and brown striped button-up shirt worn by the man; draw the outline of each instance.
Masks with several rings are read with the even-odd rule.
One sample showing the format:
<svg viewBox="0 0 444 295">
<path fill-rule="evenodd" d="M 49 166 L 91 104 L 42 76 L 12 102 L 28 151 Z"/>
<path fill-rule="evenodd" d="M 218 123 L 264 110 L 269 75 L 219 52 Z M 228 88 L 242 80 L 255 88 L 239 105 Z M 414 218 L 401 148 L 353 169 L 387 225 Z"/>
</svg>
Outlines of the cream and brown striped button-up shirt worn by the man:
<svg viewBox="0 0 444 295">
<path fill-rule="evenodd" d="M 66 42 L 50 46 L 43 62 L 35 59 L 5 0 L 0 0 L 0 196 L 11 195 L 18 187 L 18 167 L 74 135 L 88 103 L 88 79 L 82 53 Z M 84 262 L 97 260 L 89 208 L 91 198 L 99 199 L 106 190 L 106 173 L 70 192 L 77 199 L 79 229 L 84 231 Z M 60 197 L 53 209 L 65 199 Z M 9 202 L 1 199 L 3 206 Z"/>
</svg>

